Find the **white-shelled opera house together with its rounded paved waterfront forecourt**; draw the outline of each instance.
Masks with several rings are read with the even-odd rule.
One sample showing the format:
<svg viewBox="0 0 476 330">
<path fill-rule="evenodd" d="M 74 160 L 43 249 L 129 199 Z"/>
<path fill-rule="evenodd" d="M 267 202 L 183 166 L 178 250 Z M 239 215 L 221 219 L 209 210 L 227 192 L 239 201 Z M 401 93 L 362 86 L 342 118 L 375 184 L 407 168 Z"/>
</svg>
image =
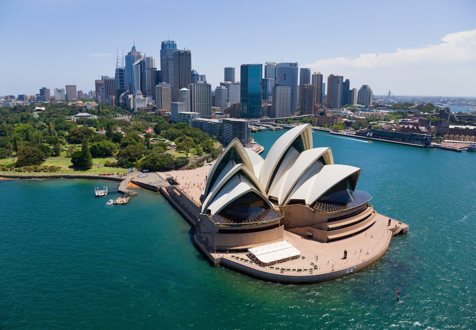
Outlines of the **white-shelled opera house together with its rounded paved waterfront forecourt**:
<svg viewBox="0 0 476 330">
<path fill-rule="evenodd" d="M 281 135 L 265 159 L 234 139 L 207 175 L 195 242 L 215 265 L 283 283 L 364 269 L 408 226 L 373 209 L 359 175 L 313 148 L 309 124 Z"/>
</svg>

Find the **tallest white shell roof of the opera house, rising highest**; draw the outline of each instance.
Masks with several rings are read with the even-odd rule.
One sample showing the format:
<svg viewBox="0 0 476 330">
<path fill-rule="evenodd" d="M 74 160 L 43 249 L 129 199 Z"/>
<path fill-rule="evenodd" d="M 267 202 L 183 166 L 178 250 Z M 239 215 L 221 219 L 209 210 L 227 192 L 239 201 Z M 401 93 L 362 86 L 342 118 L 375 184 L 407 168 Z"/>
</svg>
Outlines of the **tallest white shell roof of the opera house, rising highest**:
<svg viewBox="0 0 476 330">
<path fill-rule="evenodd" d="M 281 135 L 273 144 L 271 149 L 269 149 L 268 155 L 266 156 L 259 173 L 259 181 L 265 189 L 267 189 L 271 175 L 273 175 L 273 172 L 282 156 L 299 136 L 302 138 L 304 150 L 312 149 L 312 134 L 310 124 L 304 124 L 290 129 L 288 132 Z"/>
</svg>

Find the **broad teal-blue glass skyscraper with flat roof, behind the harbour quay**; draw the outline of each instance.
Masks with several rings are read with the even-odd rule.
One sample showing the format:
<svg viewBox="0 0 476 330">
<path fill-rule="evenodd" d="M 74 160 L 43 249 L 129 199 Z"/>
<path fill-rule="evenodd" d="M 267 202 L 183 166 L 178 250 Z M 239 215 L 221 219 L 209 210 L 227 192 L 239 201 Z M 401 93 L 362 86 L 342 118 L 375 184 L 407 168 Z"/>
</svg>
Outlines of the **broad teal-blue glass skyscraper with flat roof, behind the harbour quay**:
<svg viewBox="0 0 476 330">
<path fill-rule="evenodd" d="M 261 118 L 262 64 L 242 64 L 240 68 L 240 116 Z"/>
</svg>

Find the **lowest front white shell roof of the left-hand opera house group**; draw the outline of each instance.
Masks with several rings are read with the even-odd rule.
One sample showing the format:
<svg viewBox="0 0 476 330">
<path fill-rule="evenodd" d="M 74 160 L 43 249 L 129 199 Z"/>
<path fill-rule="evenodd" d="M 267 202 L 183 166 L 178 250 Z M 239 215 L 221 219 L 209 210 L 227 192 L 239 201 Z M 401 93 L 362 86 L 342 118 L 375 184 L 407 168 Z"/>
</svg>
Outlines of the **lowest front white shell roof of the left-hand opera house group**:
<svg viewBox="0 0 476 330">
<path fill-rule="evenodd" d="M 210 210 L 210 215 L 215 215 L 220 212 L 225 206 L 233 202 L 240 196 L 245 195 L 246 193 L 254 192 L 259 197 L 268 204 L 270 208 L 274 206 L 269 202 L 268 198 L 264 196 L 258 189 L 256 189 L 249 181 L 243 177 L 242 175 L 235 175 L 233 178 L 221 189 L 220 193 L 216 196 L 211 203 L 205 210 L 202 212 L 206 212 Z"/>
</svg>

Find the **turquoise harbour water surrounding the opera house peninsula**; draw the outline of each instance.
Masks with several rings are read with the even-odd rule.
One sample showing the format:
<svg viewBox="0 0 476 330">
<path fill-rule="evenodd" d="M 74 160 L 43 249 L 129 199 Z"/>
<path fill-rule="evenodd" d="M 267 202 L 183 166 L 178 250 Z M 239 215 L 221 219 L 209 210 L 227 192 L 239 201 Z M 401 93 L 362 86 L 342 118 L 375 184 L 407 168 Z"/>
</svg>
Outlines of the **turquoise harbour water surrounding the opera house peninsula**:
<svg viewBox="0 0 476 330">
<path fill-rule="evenodd" d="M 285 132 L 253 137 L 267 151 Z M 93 187 L 115 183 L 2 180 L 0 328 L 475 329 L 476 153 L 313 136 L 362 168 L 378 212 L 410 225 L 373 266 L 269 283 L 211 267 L 158 193 L 105 206 Z"/>
</svg>

